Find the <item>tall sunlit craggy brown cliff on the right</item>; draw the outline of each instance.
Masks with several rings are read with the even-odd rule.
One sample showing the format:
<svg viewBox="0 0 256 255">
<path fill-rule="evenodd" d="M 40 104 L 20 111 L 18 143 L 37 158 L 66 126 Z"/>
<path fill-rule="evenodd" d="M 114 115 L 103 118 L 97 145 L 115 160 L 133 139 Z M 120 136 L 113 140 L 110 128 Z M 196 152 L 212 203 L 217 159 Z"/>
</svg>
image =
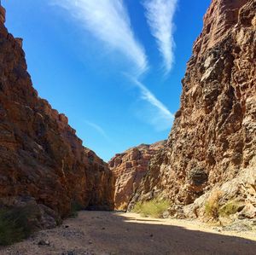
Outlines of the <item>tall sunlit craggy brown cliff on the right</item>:
<svg viewBox="0 0 256 255">
<path fill-rule="evenodd" d="M 256 217 L 255 14 L 255 0 L 212 0 L 166 148 L 151 161 L 130 209 L 162 196 L 201 217 L 219 192 L 220 206 L 239 200 Z"/>
</svg>

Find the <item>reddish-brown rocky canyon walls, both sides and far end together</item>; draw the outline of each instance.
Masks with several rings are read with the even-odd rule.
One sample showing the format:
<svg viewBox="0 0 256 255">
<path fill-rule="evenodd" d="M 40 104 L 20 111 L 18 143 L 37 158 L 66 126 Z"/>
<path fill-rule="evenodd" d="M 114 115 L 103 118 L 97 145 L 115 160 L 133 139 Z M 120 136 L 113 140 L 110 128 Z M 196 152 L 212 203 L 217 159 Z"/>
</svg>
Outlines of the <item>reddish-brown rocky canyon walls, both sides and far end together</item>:
<svg viewBox="0 0 256 255">
<path fill-rule="evenodd" d="M 38 96 L 22 39 L 4 22 L 0 7 L 0 208 L 29 206 L 50 229 L 73 207 L 131 212 L 159 199 L 171 203 L 166 217 L 219 220 L 231 205 L 231 221 L 255 225 L 255 0 L 212 0 L 168 139 L 108 163 Z"/>
</svg>

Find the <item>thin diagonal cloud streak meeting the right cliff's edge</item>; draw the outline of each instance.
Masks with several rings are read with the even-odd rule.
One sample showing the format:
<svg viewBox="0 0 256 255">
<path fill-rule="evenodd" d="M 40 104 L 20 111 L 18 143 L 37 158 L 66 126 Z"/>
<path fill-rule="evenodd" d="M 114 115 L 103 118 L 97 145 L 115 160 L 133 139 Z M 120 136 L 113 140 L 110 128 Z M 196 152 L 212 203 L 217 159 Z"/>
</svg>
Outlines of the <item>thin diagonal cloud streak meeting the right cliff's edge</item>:
<svg viewBox="0 0 256 255">
<path fill-rule="evenodd" d="M 154 125 L 157 130 L 167 130 L 171 128 L 174 115 L 168 110 L 168 108 L 154 96 L 154 94 L 148 90 L 148 88 L 137 80 L 127 74 L 125 74 L 133 84 L 140 90 L 141 98 L 147 101 L 151 107 L 150 116 L 147 116 L 147 120 L 150 124 Z M 148 112 L 148 113 L 149 113 Z"/>
</svg>

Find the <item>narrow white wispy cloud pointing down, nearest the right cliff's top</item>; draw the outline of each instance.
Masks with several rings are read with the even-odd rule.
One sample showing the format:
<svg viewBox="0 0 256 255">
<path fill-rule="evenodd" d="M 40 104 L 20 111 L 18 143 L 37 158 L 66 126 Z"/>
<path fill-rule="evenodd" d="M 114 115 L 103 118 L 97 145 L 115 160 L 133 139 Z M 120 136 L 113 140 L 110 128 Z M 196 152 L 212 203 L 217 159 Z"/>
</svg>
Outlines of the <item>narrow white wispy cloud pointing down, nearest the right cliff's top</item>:
<svg viewBox="0 0 256 255">
<path fill-rule="evenodd" d="M 146 9 L 148 25 L 163 56 L 167 74 L 171 71 L 174 63 L 173 16 L 177 7 L 177 0 L 144 0 L 143 6 Z"/>
</svg>

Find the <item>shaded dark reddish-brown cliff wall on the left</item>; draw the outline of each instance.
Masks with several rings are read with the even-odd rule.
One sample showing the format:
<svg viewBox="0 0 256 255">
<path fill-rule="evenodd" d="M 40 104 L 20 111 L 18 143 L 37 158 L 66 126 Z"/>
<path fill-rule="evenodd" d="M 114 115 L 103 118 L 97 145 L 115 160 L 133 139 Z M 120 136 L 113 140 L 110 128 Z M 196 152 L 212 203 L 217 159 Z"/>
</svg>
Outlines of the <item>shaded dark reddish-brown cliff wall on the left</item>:
<svg viewBox="0 0 256 255">
<path fill-rule="evenodd" d="M 1 205 L 33 200 L 61 217 L 69 214 L 72 203 L 112 209 L 108 165 L 82 146 L 64 114 L 38 97 L 26 72 L 22 40 L 9 34 L 4 20 L 1 7 Z"/>
</svg>

